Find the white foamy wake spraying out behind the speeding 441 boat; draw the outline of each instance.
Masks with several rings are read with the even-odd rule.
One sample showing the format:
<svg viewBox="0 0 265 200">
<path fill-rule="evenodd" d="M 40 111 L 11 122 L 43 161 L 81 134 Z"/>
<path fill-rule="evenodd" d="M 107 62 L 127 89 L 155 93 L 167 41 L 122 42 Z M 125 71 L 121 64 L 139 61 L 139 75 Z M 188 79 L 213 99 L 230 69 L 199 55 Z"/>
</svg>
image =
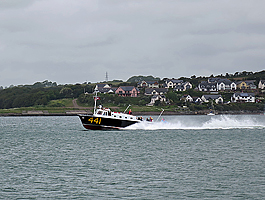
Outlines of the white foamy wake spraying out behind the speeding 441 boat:
<svg viewBox="0 0 265 200">
<path fill-rule="evenodd" d="M 141 122 L 127 127 L 131 130 L 163 130 L 163 129 L 263 129 L 264 116 L 174 116 L 159 122 Z"/>
</svg>

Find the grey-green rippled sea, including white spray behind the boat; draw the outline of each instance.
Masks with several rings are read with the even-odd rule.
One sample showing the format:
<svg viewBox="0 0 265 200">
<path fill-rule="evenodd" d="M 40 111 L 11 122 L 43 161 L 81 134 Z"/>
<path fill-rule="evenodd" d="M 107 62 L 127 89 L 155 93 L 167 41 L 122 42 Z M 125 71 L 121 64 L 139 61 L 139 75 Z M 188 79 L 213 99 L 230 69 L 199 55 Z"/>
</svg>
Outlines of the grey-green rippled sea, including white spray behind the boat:
<svg viewBox="0 0 265 200">
<path fill-rule="evenodd" d="M 153 118 L 0 117 L 0 199 L 265 199 L 264 115 Z"/>
</svg>

